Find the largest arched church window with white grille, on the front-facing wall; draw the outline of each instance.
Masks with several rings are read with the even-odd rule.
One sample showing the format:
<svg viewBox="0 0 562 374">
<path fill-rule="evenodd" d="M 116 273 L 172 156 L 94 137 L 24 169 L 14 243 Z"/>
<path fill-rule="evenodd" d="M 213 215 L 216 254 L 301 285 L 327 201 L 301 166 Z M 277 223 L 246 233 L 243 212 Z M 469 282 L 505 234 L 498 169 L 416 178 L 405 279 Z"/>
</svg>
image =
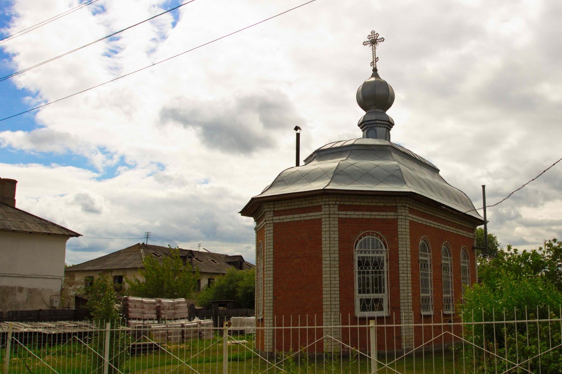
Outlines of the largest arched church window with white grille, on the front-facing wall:
<svg viewBox="0 0 562 374">
<path fill-rule="evenodd" d="M 388 315 L 388 253 L 377 233 L 362 234 L 355 243 L 355 314 Z"/>
</svg>

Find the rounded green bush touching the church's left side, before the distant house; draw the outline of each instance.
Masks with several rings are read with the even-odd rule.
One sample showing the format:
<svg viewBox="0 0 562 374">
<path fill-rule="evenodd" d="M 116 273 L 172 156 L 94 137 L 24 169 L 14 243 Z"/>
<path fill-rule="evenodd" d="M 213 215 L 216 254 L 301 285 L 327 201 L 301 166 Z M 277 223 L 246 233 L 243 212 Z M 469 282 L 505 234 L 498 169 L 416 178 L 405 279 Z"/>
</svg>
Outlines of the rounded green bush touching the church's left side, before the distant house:
<svg viewBox="0 0 562 374">
<path fill-rule="evenodd" d="M 203 289 L 197 302 L 210 307 L 213 300 L 236 300 L 242 308 L 253 308 L 256 293 L 256 270 L 236 270 L 234 267 L 219 276 L 211 287 Z"/>
</svg>

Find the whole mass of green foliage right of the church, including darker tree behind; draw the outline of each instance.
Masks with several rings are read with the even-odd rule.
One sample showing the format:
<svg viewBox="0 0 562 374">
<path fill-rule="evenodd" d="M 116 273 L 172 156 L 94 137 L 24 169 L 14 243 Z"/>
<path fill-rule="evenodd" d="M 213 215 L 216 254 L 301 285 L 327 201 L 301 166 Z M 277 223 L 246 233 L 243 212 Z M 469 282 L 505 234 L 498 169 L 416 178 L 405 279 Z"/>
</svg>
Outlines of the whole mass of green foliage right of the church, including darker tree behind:
<svg viewBox="0 0 562 374">
<path fill-rule="evenodd" d="M 560 322 L 507 322 L 560 318 L 562 293 L 560 292 L 559 266 L 560 243 L 553 239 L 539 250 L 518 251 L 511 246 L 498 252 L 482 267 L 482 283 L 466 289 L 464 303 L 459 306 L 464 322 L 477 322 L 465 326 L 464 336 L 473 341 L 476 349 L 475 362 L 483 372 L 496 366 L 498 371 L 507 370 L 506 361 L 485 353 L 483 348 L 512 362 L 529 359 L 531 372 L 562 372 L 560 350 L 542 354 L 550 349 L 549 341 L 560 341 Z M 496 321 L 496 324 L 478 324 Z M 536 357 L 536 358 L 533 358 Z M 540 369 L 539 369 L 540 366 Z"/>
</svg>

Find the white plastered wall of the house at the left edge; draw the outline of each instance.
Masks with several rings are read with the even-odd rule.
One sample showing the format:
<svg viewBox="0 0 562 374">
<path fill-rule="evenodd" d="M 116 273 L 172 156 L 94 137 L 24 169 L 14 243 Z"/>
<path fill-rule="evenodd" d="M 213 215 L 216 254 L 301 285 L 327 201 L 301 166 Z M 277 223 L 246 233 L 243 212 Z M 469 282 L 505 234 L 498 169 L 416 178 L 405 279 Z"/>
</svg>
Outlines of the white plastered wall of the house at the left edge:
<svg viewBox="0 0 562 374">
<path fill-rule="evenodd" d="M 67 240 L 0 232 L 0 311 L 60 306 Z"/>
</svg>

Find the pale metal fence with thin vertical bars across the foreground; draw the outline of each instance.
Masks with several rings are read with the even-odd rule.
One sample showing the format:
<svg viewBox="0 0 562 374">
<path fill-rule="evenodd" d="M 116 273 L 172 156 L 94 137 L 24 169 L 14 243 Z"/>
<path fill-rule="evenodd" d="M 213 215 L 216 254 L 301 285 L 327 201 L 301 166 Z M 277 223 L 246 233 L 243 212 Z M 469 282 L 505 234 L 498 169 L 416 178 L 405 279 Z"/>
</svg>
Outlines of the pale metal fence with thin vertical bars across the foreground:
<svg viewBox="0 0 562 374">
<path fill-rule="evenodd" d="M 0 363 L 4 374 L 561 373 L 560 310 L 544 314 L 482 311 L 419 324 L 396 323 L 400 316 L 287 316 L 265 327 L 10 322 L 0 324 Z M 402 339 L 405 331 L 411 339 Z"/>
</svg>

